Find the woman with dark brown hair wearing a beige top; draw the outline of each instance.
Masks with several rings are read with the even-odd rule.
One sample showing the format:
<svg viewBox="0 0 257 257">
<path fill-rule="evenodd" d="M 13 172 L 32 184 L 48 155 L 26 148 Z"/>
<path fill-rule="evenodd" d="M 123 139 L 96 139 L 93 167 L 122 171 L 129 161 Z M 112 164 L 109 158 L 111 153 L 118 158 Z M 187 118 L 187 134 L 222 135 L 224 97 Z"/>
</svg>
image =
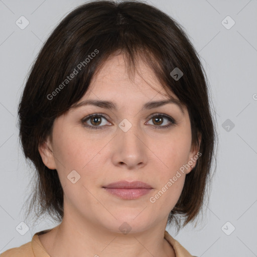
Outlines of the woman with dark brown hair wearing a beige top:
<svg viewBox="0 0 257 257">
<path fill-rule="evenodd" d="M 215 131 L 180 26 L 135 1 L 72 11 L 40 51 L 19 105 L 38 184 L 28 213 L 58 226 L 1 256 L 192 256 L 166 231 L 202 207 Z"/>
</svg>

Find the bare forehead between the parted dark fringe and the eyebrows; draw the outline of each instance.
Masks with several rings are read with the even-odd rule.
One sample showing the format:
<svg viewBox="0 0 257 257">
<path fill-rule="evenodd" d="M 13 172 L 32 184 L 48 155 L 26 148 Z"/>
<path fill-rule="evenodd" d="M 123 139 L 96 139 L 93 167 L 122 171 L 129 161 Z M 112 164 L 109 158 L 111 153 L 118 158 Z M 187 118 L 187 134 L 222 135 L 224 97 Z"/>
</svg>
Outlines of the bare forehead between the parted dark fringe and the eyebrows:
<svg viewBox="0 0 257 257">
<path fill-rule="evenodd" d="M 163 85 L 159 82 L 154 71 L 139 59 L 136 72 L 129 73 L 123 55 L 117 55 L 107 59 L 101 68 L 95 73 L 86 93 L 87 96 L 95 94 L 104 97 L 120 97 L 126 95 L 140 99 L 155 97 L 157 99 L 169 98 Z M 170 94 L 178 99 L 177 96 Z M 101 98 L 101 97 L 100 97 Z"/>
</svg>

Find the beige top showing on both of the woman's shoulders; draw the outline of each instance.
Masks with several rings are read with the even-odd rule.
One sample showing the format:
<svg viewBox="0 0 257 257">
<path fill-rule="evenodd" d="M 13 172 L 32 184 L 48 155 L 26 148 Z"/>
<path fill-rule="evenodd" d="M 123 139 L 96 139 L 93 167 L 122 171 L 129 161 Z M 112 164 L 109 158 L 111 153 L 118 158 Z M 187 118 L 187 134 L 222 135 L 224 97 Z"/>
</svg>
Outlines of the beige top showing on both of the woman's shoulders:
<svg viewBox="0 0 257 257">
<path fill-rule="evenodd" d="M 11 248 L 0 254 L 0 257 L 51 257 L 41 241 L 39 235 L 49 232 L 51 229 L 42 230 L 37 232 L 32 237 L 32 240 L 28 243 L 21 245 L 20 247 Z M 164 238 L 173 247 L 176 257 L 196 257 L 192 256 L 177 240 L 175 240 L 167 230 L 164 232 Z"/>
</svg>

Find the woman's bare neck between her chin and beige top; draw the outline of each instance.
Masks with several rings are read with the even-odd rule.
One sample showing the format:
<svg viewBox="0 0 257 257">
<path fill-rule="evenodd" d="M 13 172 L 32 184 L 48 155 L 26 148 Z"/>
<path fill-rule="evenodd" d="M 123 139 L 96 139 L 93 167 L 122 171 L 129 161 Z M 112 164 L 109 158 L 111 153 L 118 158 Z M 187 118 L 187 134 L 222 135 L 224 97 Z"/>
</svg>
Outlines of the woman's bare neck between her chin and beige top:
<svg viewBox="0 0 257 257">
<path fill-rule="evenodd" d="M 138 233 L 112 232 L 98 224 L 75 221 L 64 217 L 60 225 L 50 232 L 40 235 L 40 241 L 50 256 L 94 256 L 94 257 L 175 257 L 175 252 L 164 238 L 160 227 L 153 227 Z M 68 222 L 69 221 L 69 222 Z"/>
</svg>

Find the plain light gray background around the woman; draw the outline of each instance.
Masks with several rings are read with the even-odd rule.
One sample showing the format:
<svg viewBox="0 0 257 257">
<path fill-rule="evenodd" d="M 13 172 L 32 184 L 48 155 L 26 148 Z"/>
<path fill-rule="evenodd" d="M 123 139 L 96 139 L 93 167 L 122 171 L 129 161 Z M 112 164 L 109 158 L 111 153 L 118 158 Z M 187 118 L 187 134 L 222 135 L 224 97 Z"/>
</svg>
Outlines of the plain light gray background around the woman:
<svg viewBox="0 0 257 257">
<path fill-rule="evenodd" d="M 216 175 L 202 221 L 177 235 L 167 229 L 193 255 L 257 256 L 257 1 L 147 2 L 175 18 L 190 36 L 211 85 L 219 138 Z M 16 230 L 24 221 L 21 208 L 31 192 L 33 174 L 19 147 L 17 105 L 43 42 L 82 3 L 0 0 L 0 253 L 55 226 L 45 217 L 25 235 Z M 21 16 L 29 21 L 24 30 L 16 25 Z M 227 16 L 235 21 L 230 29 L 223 26 L 232 25 L 224 20 Z M 235 230 L 227 235 L 232 226 Z"/>
</svg>

